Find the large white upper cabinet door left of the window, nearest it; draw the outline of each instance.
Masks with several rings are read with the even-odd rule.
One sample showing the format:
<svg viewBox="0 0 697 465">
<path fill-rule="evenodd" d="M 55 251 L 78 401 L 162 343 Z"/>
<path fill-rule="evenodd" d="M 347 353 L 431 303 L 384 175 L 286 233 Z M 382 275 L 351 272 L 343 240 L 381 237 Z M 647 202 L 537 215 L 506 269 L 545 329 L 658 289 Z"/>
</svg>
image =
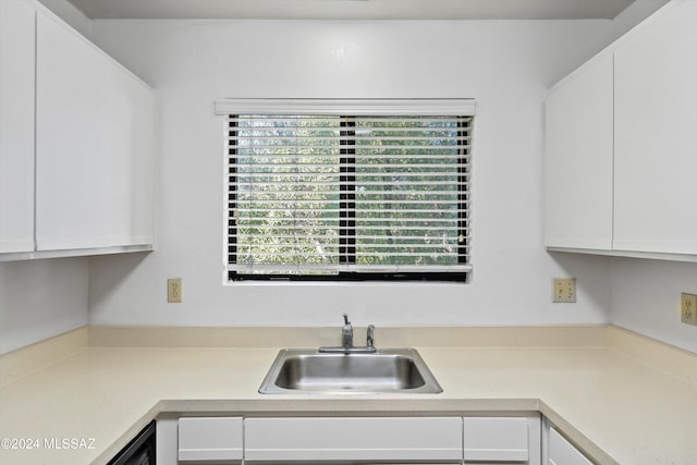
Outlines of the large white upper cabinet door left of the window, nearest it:
<svg viewBox="0 0 697 465">
<path fill-rule="evenodd" d="M 39 250 L 152 243 L 152 91 L 39 11 L 36 77 Z"/>
</svg>

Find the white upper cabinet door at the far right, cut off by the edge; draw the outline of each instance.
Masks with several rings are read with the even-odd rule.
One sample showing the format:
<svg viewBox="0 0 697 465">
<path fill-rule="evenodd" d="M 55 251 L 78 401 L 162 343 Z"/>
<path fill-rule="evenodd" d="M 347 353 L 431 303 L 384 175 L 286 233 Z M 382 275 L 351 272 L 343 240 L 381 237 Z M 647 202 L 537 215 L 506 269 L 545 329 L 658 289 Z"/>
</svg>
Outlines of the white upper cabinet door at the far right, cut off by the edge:
<svg viewBox="0 0 697 465">
<path fill-rule="evenodd" d="M 615 50 L 614 248 L 697 254 L 697 2 Z"/>
</svg>

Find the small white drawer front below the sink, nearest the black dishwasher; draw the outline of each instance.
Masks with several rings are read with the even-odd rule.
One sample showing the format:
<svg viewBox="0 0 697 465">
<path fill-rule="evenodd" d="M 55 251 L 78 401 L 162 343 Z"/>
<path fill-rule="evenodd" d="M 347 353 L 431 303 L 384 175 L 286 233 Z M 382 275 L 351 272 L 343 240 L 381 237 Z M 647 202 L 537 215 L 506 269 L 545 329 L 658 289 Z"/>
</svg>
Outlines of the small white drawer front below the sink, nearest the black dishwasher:
<svg viewBox="0 0 697 465">
<path fill-rule="evenodd" d="M 180 461 L 242 461 L 242 418 L 179 419 Z"/>
</svg>

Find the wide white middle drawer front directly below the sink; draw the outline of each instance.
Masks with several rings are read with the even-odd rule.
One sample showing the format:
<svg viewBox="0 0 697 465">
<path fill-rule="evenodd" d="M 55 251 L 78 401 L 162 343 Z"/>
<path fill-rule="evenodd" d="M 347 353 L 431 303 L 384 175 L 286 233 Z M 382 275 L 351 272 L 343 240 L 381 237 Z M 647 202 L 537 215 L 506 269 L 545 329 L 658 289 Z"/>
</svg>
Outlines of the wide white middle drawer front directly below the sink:
<svg viewBox="0 0 697 465">
<path fill-rule="evenodd" d="M 247 418 L 245 462 L 462 461 L 462 418 Z"/>
</svg>

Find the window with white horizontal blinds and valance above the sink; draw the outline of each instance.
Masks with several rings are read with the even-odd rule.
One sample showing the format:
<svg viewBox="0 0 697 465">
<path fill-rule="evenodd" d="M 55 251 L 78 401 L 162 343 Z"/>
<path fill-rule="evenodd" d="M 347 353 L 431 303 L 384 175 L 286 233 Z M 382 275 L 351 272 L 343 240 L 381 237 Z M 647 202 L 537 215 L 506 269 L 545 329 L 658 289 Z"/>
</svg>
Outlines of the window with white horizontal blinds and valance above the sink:
<svg viewBox="0 0 697 465">
<path fill-rule="evenodd" d="M 217 102 L 229 279 L 466 281 L 466 102 Z"/>
</svg>

